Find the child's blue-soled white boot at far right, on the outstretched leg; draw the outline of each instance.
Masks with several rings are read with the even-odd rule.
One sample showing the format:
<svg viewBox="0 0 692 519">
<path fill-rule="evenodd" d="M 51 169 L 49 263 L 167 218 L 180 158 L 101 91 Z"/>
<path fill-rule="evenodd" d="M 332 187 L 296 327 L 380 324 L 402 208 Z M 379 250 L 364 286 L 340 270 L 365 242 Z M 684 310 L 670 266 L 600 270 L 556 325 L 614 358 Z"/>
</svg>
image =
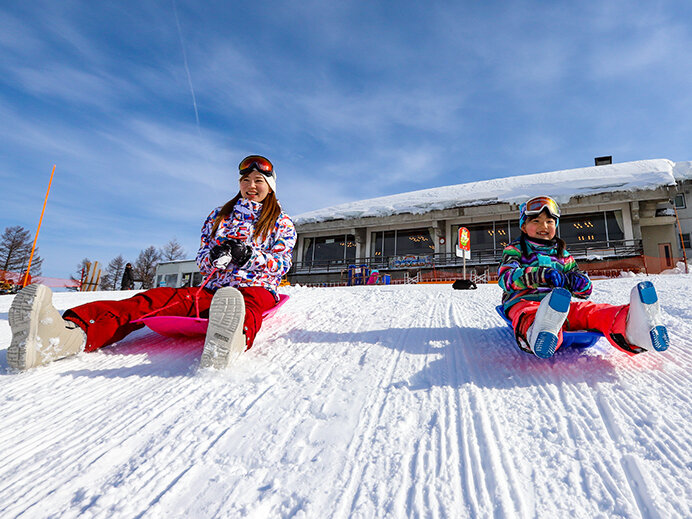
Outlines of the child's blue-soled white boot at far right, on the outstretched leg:
<svg viewBox="0 0 692 519">
<path fill-rule="evenodd" d="M 625 338 L 630 344 L 646 350 L 664 351 L 670 346 L 656 289 L 650 281 L 638 283 L 630 292 Z"/>
</svg>

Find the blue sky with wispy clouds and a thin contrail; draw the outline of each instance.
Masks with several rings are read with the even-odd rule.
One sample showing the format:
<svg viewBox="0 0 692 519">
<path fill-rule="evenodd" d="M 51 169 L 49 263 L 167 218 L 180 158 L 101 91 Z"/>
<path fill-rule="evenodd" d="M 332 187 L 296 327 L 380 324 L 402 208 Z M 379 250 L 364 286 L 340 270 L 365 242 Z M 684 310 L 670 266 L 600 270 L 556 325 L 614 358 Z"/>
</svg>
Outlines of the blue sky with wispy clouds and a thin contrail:
<svg viewBox="0 0 692 519">
<path fill-rule="evenodd" d="M 267 155 L 297 215 L 427 187 L 692 160 L 692 3 L 0 5 L 0 227 L 43 274 L 134 261 Z M 0 229 L 0 231 L 2 230 Z"/>
</svg>

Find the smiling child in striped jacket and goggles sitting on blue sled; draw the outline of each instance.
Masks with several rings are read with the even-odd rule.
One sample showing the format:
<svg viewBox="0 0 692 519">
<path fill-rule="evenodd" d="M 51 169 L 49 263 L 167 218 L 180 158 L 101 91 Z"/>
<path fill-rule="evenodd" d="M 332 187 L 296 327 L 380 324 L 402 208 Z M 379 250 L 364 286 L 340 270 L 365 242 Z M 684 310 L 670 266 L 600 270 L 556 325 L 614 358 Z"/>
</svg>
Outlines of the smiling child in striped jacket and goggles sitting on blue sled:
<svg viewBox="0 0 692 519">
<path fill-rule="evenodd" d="M 596 330 L 629 355 L 666 350 L 668 331 L 651 282 L 637 284 L 628 305 L 572 302 L 587 299 L 592 286 L 556 236 L 559 219 L 552 198 L 532 198 L 520 208 L 521 236 L 502 252 L 498 282 L 519 348 L 545 359 L 562 344 L 563 330 Z"/>
</svg>

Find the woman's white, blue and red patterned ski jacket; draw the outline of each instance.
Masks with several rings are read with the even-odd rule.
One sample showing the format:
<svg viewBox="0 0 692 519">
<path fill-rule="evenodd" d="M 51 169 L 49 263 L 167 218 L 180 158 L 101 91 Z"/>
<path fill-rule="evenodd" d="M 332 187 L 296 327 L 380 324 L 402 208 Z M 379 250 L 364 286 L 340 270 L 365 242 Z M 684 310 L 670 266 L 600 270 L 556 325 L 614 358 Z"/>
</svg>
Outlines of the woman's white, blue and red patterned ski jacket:
<svg viewBox="0 0 692 519">
<path fill-rule="evenodd" d="M 255 237 L 255 225 L 262 211 L 262 204 L 241 198 L 231 214 L 225 218 L 212 236 L 212 227 L 221 207 L 214 209 L 202 226 L 202 242 L 197 252 L 197 266 L 202 275 L 208 275 L 214 268 L 209 261 L 209 251 L 225 237 L 242 239 L 252 247 L 252 256 L 242 267 L 230 264 L 228 268 L 215 275 L 206 285 L 212 290 L 221 287 L 260 286 L 269 290 L 274 297 L 284 276 L 291 268 L 293 247 L 296 244 L 296 230 L 291 218 L 282 212 L 274 228 L 259 242 Z"/>
</svg>

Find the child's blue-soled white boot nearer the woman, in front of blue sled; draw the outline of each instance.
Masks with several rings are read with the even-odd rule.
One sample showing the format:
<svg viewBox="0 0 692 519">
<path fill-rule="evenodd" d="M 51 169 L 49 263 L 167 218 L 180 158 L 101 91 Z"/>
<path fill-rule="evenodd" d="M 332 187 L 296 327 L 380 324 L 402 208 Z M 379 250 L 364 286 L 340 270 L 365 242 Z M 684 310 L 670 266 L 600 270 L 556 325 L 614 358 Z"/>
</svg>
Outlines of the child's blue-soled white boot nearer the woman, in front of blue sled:
<svg viewBox="0 0 692 519">
<path fill-rule="evenodd" d="M 541 301 L 536 318 L 526 333 L 529 347 L 536 357 L 547 359 L 557 349 L 558 333 L 567 319 L 572 294 L 556 288 Z"/>
</svg>

